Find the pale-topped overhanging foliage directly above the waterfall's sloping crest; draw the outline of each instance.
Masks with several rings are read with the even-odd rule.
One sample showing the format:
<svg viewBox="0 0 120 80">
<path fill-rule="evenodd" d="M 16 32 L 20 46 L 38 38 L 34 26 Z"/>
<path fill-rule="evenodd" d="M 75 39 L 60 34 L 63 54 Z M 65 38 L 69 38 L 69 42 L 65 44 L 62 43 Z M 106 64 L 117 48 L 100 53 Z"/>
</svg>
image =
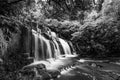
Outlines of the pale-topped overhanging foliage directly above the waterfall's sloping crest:
<svg viewBox="0 0 120 80">
<path fill-rule="evenodd" d="M 58 36 L 70 40 L 71 34 L 78 31 L 81 25 L 78 21 L 58 21 L 57 19 L 46 19 L 44 25 L 56 32 Z"/>
</svg>

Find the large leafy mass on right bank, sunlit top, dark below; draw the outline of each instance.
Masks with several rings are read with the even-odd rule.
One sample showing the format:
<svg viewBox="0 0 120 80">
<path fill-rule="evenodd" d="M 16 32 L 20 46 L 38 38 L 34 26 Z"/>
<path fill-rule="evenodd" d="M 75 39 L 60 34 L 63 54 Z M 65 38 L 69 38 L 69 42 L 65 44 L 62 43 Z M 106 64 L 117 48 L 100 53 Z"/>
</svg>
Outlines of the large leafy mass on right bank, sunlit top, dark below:
<svg viewBox="0 0 120 80">
<path fill-rule="evenodd" d="M 93 57 L 120 56 L 119 4 L 119 0 L 105 2 L 101 13 L 73 34 L 81 52 Z"/>
</svg>

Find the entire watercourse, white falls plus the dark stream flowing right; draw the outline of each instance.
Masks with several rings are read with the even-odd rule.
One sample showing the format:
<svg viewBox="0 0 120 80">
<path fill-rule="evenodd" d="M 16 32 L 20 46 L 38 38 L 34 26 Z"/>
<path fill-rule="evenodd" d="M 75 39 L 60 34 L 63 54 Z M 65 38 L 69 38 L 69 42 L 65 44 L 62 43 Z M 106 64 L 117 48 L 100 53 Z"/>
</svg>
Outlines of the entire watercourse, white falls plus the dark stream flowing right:
<svg viewBox="0 0 120 80">
<path fill-rule="evenodd" d="M 120 66 L 108 60 L 76 59 L 73 44 L 52 31 L 43 35 L 32 30 L 32 36 L 34 62 L 28 66 L 44 64 L 48 71 L 60 72 L 61 77 L 54 80 L 111 80 L 111 72 L 119 73 Z"/>
</svg>

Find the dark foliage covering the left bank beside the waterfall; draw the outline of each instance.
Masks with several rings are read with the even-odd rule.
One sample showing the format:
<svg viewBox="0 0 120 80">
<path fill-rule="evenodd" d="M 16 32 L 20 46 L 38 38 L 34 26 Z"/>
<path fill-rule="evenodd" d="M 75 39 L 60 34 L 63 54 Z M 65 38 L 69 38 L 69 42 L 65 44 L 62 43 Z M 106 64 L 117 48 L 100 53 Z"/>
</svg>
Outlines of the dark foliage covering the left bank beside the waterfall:
<svg viewBox="0 0 120 80">
<path fill-rule="evenodd" d="M 0 79 L 14 80 L 15 71 L 28 63 L 21 53 L 23 24 L 15 17 L 0 16 Z M 14 75 L 14 77 L 13 77 Z"/>
</svg>

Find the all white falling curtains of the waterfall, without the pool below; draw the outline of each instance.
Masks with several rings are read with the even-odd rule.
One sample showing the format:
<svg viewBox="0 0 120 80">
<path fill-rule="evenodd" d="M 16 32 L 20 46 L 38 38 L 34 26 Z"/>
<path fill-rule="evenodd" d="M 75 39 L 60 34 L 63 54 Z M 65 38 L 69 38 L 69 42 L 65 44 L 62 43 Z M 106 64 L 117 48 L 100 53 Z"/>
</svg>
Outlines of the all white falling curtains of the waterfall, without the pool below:
<svg viewBox="0 0 120 80">
<path fill-rule="evenodd" d="M 65 55 L 73 55 L 73 45 L 62 38 L 58 38 L 56 33 L 49 31 L 42 35 L 41 32 L 32 30 L 34 36 L 34 61 L 53 60 Z"/>
</svg>

